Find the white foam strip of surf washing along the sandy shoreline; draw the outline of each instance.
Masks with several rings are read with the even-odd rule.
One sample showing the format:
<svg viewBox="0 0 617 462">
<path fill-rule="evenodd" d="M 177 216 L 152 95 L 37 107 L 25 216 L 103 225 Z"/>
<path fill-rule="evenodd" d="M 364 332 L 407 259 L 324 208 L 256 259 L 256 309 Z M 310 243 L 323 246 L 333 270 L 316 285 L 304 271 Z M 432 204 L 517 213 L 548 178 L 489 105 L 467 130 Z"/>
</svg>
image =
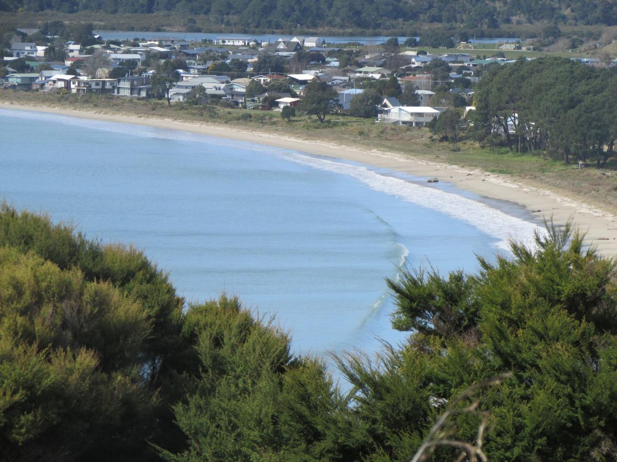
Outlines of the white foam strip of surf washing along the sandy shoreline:
<svg viewBox="0 0 617 462">
<path fill-rule="evenodd" d="M 207 142 L 218 146 L 238 146 L 243 149 L 259 152 L 264 151 L 263 145 L 259 144 L 203 136 L 189 132 L 161 130 L 133 124 L 102 122 L 68 116 L 2 109 L 0 109 L 0 115 L 19 118 L 36 118 L 38 120 L 48 120 L 54 123 L 61 122 L 73 126 L 113 131 L 131 136 L 156 137 L 159 139 L 189 142 Z M 275 153 L 276 155 L 298 164 L 354 177 L 374 190 L 398 197 L 404 201 L 415 203 L 419 206 L 439 211 L 440 213 L 466 222 L 481 232 L 497 239 L 498 242 L 496 246 L 504 250 L 509 249 L 508 243 L 510 240 L 520 241 L 531 246 L 534 243 L 534 232 L 536 232 L 536 230 L 543 232 L 536 224 L 524 221 L 518 217 L 510 216 L 499 209 L 492 208 L 479 201 L 436 188 L 414 184 L 404 179 L 379 174 L 366 166 L 334 161 L 278 148 L 268 148 L 268 152 Z"/>
</svg>

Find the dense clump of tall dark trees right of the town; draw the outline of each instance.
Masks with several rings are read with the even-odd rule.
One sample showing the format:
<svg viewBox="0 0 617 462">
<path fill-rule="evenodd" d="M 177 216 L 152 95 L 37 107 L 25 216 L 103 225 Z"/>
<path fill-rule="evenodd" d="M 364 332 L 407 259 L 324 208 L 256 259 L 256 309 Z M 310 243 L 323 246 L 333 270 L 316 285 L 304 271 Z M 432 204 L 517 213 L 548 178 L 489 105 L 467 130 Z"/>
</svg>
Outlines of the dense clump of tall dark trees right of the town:
<svg viewBox="0 0 617 462">
<path fill-rule="evenodd" d="M 492 68 L 470 113 L 476 139 L 494 132 L 510 150 L 606 163 L 617 137 L 617 75 L 565 58 L 518 60 Z"/>
</svg>

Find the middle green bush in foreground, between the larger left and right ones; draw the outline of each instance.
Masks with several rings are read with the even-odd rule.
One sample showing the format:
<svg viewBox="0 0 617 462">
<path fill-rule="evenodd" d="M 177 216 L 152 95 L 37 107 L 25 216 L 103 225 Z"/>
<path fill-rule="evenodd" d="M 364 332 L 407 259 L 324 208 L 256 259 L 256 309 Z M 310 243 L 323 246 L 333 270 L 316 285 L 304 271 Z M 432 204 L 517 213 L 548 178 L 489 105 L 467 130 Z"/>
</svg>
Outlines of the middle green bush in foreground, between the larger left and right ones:
<svg viewBox="0 0 617 462">
<path fill-rule="evenodd" d="M 323 363 L 292 356 L 288 336 L 236 298 L 190 307 L 184 334 L 200 363 L 175 407 L 191 445 L 167 460 L 336 460 L 327 440 L 344 400 Z"/>
</svg>

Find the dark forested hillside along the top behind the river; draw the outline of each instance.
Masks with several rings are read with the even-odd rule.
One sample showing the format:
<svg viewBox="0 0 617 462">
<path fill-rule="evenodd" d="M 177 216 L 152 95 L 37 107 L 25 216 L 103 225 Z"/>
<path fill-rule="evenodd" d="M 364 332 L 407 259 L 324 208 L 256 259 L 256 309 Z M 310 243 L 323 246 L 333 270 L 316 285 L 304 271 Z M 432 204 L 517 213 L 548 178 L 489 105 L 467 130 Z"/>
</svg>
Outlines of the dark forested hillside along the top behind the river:
<svg viewBox="0 0 617 462">
<path fill-rule="evenodd" d="M 213 23 L 275 29 L 378 29 L 415 22 L 458 24 L 467 28 L 537 22 L 617 24 L 615 0 L 0 0 L 0 10 L 64 13 L 94 10 L 112 14 L 173 11 L 212 15 Z"/>
</svg>

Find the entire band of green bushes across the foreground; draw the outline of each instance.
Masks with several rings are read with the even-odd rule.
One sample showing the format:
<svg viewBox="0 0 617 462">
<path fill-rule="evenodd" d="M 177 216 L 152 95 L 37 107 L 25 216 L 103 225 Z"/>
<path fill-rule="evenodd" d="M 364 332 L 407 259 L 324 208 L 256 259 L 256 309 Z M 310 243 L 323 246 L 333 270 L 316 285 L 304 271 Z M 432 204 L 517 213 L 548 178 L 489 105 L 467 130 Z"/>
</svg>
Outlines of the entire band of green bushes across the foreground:
<svg viewBox="0 0 617 462">
<path fill-rule="evenodd" d="M 2 205 L 0 460 L 410 460 L 451 404 L 489 460 L 616 460 L 616 262 L 571 224 L 511 252 L 387 280 L 410 336 L 333 355 L 344 391 L 237 298 L 185 306 L 140 251 Z"/>
</svg>

